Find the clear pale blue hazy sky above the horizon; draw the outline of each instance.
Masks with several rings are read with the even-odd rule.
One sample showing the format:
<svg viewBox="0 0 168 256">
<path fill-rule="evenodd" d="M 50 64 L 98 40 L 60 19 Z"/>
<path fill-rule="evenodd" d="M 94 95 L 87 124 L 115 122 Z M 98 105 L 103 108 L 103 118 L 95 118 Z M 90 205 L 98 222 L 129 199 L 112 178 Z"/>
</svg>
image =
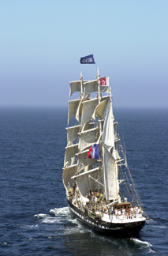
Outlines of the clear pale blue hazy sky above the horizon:
<svg viewBox="0 0 168 256">
<path fill-rule="evenodd" d="M 115 107 L 168 107 L 167 0 L 0 0 L 0 106 L 68 106 L 91 54 Z"/>
</svg>

